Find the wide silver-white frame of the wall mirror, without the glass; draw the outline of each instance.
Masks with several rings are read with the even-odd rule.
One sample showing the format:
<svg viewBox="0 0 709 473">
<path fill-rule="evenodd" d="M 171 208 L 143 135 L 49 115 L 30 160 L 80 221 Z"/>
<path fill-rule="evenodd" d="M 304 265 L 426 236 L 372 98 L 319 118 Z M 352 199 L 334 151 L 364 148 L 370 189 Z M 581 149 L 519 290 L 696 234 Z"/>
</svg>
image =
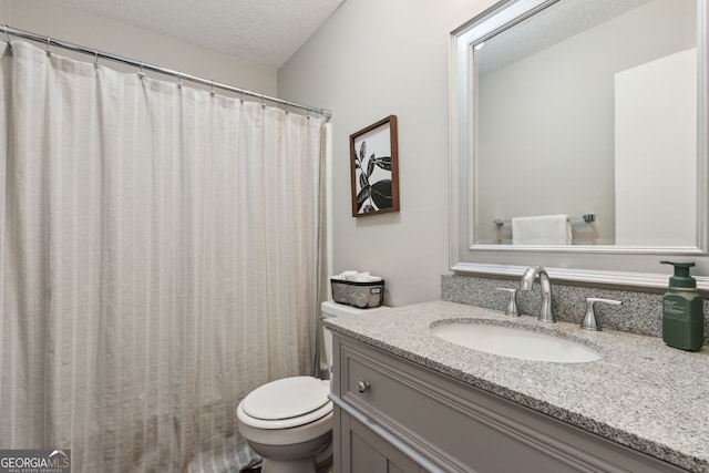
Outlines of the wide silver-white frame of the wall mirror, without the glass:
<svg viewBox="0 0 709 473">
<path fill-rule="evenodd" d="M 709 290 L 709 58 L 707 3 L 697 0 L 697 245 L 531 246 L 476 245 L 473 240 L 473 51 L 474 45 L 546 7 L 563 0 L 502 0 L 451 32 L 450 44 L 450 269 L 454 273 L 520 276 L 528 266 L 544 266 L 552 278 L 666 288 L 660 259 L 693 260 L 700 290 Z M 619 258 L 619 256 L 623 256 Z M 503 263 L 501 263 L 503 261 Z"/>
</svg>

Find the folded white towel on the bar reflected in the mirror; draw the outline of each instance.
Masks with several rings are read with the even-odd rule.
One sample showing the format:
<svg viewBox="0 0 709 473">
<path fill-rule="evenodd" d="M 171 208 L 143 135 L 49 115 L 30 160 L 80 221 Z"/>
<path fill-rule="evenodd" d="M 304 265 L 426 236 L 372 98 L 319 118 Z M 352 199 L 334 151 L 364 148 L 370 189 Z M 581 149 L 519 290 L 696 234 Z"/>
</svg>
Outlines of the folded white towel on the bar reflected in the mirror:
<svg viewBox="0 0 709 473">
<path fill-rule="evenodd" d="M 568 215 L 542 215 L 512 219 L 513 245 L 571 245 Z"/>
</svg>

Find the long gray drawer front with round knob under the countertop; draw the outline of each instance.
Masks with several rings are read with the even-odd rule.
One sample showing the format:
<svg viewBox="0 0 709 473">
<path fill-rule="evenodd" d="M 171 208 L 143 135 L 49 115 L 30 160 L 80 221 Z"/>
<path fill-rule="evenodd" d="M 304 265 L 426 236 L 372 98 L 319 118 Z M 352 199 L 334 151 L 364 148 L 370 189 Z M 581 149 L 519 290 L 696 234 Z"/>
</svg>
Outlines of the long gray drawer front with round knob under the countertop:
<svg viewBox="0 0 709 473">
<path fill-rule="evenodd" d="M 444 471 L 681 471 L 353 340 L 339 367 L 336 394 Z"/>
</svg>

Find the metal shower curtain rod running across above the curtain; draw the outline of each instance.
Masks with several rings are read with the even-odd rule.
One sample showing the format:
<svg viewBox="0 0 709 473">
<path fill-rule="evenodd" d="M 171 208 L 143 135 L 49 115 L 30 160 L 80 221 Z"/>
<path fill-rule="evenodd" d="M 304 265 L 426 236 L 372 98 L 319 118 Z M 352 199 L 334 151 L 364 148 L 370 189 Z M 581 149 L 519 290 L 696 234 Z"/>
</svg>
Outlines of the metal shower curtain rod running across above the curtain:
<svg viewBox="0 0 709 473">
<path fill-rule="evenodd" d="M 174 78 L 177 78 L 177 80 L 187 80 L 191 82 L 195 82 L 197 84 L 202 84 L 202 85 L 208 85 L 212 89 L 222 89 L 225 91 L 229 91 L 229 92 L 234 92 L 237 93 L 239 95 L 248 95 L 255 99 L 263 101 L 268 101 L 271 103 L 277 103 L 279 105 L 282 105 L 286 107 L 286 110 L 288 110 L 289 107 L 294 107 L 294 109 L 300 109 L 300 110 L 305 110 L 307 113 L 316 113 L 318 115 L 322 115 L 326 119 L 330 119 L 332 116 L 332 112 L 326 109 L 316 109 L 312 106 L 308 106 L 308 105 L 302 105 L 299 103 L 295 103 L 295 102 L 289 102 L 282 99 L 276 99 L 273 96 L 268 96 L 268 95 L 264 95 L 264 94 L 259 94 L 256 92 L 250 92 L 247 91 L 245 89 L 239 89 L 239 88 L 235 88 L 232 85 L 227 85 L 227 84 L 223 84 L 219 82 L 215 82 L 208 79 L 203 79 L 196 75 L 192 75 L 192 74 L 185 74 L 183 72 L 179 71 L 174 71 L 172 69 L 166 69 L 166 68 L 161 68 L 158 65 L 154 65 L 154 64 L 147 64 L 144 63 L 142 61 L 135 61 L 133 59 L 129 59 L 129 58 L 124 58 L 117 54 L 112 54 L 109 52 L 104 52 L 104 51 L 99 51 L 97 49 L 91 49 L 91 48 L 86 48 L 86 47 L 82 47 L 79 44 L 74 44 L 74 43 L 70 43 L 68 41 L 61 41 L 61 40 L 56 40 L 54 38 L 50 38 L 50 37 L 43 37 L 37 33 L 32 33 L 29 31 L 24 31 L 24 30 L 19 30 L 17 28 L 12 28 L 9 27 L 7 24 L 3 24 L 2 27 L 0 27 L 0 29 L 2 31 L 4 31 L 4 34 L 7 37 L 7 41 L 11 42 L 12 38 L 11 37 L 18 37 L 18 38 L 23 38 L 27 40 L 32 40 L 32 41 L 37 41 L 40 43 L 45 44 L 48 48 L 49 47 L 59 47 L 59 48 L 63 48 L 70 51 L 74 51 L 74 52 L 79 52 L 79 53 L 83 53 L 83 54 L 89 54 L 89 55 L 93 55 L 94 58 L 96 58 L 96 61 L 99 60 L 99 58 L 101 59 L 107 59 L 111 61 L 115 61 L 115 62 L 121 62 L 123 64 L 129 64 L 129 65 L 133 65 L 135 68 L 138 68 L 141 70 L 141 72 L 143 70 L 147 70 L 147 71 L 153 71 L 153 72 L 157 72 L 161 74 L 165 74 L 165 75 L 172 75 Z"/>
</svg>

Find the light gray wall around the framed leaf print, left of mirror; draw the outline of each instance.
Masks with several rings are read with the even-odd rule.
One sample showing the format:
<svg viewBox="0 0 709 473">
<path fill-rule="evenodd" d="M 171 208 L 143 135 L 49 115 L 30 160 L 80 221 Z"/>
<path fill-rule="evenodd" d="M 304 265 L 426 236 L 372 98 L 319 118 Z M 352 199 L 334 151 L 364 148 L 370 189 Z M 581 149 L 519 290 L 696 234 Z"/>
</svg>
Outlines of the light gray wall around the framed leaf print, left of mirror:
<svg viewBox="0 0 709 473">
<path fill-rule="evenodd" d="M 278 71 L 279 96 L 333 111 L 333 268 L 387 280 L 393 306 L 439 299 L 449 269 L 449 33 L 493 0 L 347 0 Z M 399 121 L 401 212 L 353 218 L 349 135 Z"/>
</svg>

